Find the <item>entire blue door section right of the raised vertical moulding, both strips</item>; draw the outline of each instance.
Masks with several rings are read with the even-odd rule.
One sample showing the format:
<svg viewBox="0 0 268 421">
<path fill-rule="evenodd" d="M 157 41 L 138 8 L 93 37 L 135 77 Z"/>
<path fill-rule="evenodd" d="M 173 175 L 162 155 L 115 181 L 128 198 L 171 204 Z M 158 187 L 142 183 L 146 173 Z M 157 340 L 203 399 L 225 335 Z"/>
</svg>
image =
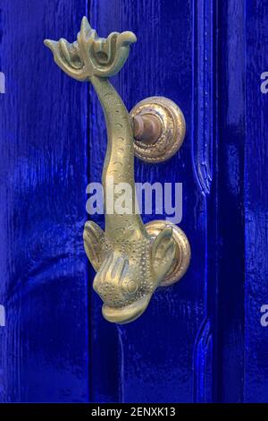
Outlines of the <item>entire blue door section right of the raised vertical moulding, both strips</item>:
<svg viewBox="0 0 268 421">
<path fill-rule="evenodd" d="M 219 8 L 218 401 L 267 402 L 266 2 Z"/>
</svg>

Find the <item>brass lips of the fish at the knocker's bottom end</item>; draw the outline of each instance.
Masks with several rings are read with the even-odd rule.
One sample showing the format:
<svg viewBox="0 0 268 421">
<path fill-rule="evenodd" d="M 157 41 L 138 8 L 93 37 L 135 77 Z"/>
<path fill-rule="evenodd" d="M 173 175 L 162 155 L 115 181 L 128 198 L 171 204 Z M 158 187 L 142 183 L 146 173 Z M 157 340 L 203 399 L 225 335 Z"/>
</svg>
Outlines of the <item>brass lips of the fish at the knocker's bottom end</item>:
<svg viewBox="0 0 268 421">
<path fill-rule="evenodd" d="M 133 322 L 145 312 L 147 305 L 151 299 L 151 295 L 143 296 L 137 301 L 124 307 L 110 307 L 109 305 L 103 305 L 103 316 L 108 322 L 125 324 Z"/>
</svg>

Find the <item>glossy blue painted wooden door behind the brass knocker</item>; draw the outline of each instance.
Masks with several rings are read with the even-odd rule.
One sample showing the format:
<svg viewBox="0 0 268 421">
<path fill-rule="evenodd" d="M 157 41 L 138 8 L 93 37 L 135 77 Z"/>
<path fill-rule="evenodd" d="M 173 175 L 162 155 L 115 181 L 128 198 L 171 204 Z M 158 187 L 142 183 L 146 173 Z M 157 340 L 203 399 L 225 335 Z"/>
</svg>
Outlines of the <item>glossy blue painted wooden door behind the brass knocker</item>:
<svg viewBox="0 0 268 421">
<path fill-rule="evenodd" d="M 103 112 L 43 46 L 76 39 L 84 15 L 137 35 L 112 80 L 128 109 L 164 96 L 187 125 L 180 152 L 135 176 L 182 183 L 190 266 L 126 325 L 102 317 L 82 241 Z M 0 5 L 0 401 L 268 400 L 267 21 L 265 0 Z"/>
</svg>

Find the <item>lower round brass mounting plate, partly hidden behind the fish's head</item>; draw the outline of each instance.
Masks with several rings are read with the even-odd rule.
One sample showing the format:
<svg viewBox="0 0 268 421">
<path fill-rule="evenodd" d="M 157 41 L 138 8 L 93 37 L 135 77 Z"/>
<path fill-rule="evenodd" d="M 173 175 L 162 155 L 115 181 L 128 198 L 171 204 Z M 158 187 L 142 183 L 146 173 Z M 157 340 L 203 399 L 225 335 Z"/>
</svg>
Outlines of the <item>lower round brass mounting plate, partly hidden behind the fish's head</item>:
<svg viewBox="0 0 268 421">
<path fill-rule="evenodd" d="M 191 258 L 191 249 L 188 243 L 188 238 L 185 233 L 167 220 L 153 220 L 148 222 L 145 226 L 147 233 L 152 239 L 156 238 L 163 228 L 172 227 L 172 236 L 175 241 L 176 251 L 170 271 L 160 284 L 160 287 L 168 287 L 178 280 L 180 280 L 185 272 L 188 270 L 188 265 Z"/>
</svg>

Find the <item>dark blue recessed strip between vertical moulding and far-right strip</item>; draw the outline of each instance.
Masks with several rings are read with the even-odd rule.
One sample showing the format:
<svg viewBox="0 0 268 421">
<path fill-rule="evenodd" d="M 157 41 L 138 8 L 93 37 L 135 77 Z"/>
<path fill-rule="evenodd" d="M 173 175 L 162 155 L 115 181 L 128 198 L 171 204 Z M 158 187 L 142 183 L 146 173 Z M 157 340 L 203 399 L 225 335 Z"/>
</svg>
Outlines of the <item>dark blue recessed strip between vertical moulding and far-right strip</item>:
<svg viewBox="0 0 268 421">
<path fill-rule="evenodd" d="M 243 401 L 245 2 L 219 4 L 218 142 L 215 185 L 217 384 L 215 398 Z"/>
</svg>

